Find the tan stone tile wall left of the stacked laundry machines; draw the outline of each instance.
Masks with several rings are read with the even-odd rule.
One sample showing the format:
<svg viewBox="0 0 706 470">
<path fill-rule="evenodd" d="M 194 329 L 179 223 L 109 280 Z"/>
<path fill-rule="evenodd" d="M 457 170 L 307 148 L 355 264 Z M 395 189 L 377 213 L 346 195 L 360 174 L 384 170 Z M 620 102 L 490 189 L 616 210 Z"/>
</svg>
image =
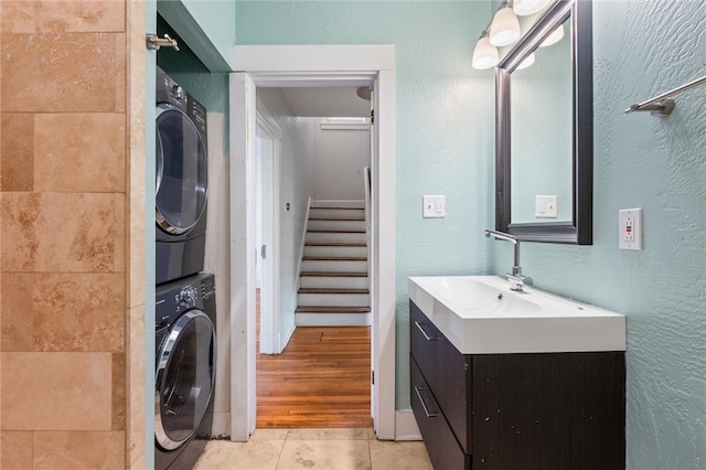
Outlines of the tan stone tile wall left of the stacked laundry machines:
<svg viewBox="0 0 706 470">
<path fill-rule="evenodd" d="M 143 18 L 0 2 L 0 468 L 143 466 Z"/>
</svg>

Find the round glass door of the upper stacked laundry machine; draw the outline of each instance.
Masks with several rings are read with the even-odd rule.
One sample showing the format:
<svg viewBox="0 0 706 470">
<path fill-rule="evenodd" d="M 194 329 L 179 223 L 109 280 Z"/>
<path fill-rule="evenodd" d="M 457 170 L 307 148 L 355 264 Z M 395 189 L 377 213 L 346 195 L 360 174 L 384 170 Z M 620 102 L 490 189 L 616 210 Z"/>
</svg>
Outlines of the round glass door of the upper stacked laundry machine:
<svg viewBox="0 0 706 470">
<path fill-rule="evenodd" d="M 175 235 L 189 232 L 206 207 L 208 163 L 196 126 L 181 109 L 157 109 L 157 223 Z"/>
</svg>

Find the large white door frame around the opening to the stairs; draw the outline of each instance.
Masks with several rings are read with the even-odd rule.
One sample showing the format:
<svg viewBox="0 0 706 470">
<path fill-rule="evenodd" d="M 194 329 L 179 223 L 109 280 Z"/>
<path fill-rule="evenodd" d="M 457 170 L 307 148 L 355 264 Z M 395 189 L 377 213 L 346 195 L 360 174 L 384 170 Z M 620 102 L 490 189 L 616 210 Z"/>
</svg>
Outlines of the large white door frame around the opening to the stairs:
<svg viewBox="0 0 706 470">
<path fill-rule="evenodd" d="M 373 174 L 373 385 L 378 439 L 395 439 L 396 84 L 394 45 L 235 46 L 231 74 L 231 439 L 255 430 L 256 87 L 374 84 L 378 151 Z M 384 234 L 384 236 L 382 235 Z"/>
</svg>

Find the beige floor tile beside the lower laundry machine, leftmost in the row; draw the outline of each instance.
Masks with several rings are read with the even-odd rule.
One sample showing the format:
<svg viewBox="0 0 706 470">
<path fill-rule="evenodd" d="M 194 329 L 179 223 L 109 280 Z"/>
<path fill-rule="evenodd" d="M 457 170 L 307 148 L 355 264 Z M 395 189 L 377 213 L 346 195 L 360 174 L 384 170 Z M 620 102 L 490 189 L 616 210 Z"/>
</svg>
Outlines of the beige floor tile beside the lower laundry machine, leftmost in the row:
<svg viewBox="0 0 706 470">
<path fill-rule="evenodd" d="M 284 440 L 254 439 L 248 442 L 212 440 L 194 466 L 195 470 L 275 470 Z"/>
</svg>

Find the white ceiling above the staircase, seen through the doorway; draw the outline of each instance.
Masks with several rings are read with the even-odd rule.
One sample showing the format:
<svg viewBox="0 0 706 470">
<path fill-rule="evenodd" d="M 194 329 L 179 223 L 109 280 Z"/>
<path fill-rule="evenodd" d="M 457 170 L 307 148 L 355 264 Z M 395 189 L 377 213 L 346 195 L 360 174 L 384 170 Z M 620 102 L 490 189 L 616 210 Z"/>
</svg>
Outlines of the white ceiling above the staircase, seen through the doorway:
<svg viewBox="0 0 706 470">
<path fill-rule="evenodd" d="M 356 87 L 281 88 L 295 116 L 370 117 L 371 102 L 356 95 Z"/>
</svg>

